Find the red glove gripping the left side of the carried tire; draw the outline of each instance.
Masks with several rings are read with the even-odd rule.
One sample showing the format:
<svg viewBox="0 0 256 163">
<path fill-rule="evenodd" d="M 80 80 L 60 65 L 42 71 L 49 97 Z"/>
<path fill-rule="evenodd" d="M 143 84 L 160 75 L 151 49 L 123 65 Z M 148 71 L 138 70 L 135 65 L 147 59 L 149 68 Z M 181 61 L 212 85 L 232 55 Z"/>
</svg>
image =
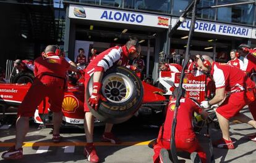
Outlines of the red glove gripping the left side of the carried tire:
<svg viewBox="0 0 256 163">
<path fill-rule="evenodd" d="M 91 97 L 88 99 L 88 103 L 92 106 L 93 109 L 98 109 L 98 103 L 100 100 L 107 101 L 103 95 L 101 95 L 101 86 L 100 82 L 93 82 L 93 93 Z"/>
</svg>

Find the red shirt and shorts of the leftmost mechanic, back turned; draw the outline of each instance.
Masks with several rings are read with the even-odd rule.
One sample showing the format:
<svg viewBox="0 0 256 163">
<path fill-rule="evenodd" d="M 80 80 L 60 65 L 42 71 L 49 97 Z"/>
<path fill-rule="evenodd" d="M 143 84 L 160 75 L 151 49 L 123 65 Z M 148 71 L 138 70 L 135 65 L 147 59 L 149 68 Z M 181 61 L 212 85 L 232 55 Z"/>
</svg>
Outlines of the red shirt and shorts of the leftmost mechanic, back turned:
<svg viewBox="0 0 256 163">
<path fill-rule="evenodd" d="M 35 60 L 35 79 L 18 109 L 18 116 L 31 117 L 41 100 L 49 97 L 53 112 L 60 112 L 69 63 L 58 56 L 38 57 Z M 33 100 L 32 100 L 33 99 Z"/>
</svg>

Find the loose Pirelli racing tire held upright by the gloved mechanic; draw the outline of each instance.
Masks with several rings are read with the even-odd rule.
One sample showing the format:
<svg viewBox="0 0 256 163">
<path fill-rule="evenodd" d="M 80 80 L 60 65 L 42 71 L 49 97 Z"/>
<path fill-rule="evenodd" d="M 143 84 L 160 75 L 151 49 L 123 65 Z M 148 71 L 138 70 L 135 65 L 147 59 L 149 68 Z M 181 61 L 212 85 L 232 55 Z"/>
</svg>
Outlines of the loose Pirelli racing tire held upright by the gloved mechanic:
<svg viewBox="0 0 256 163">
<path fill-rule="evenodd" d="M 114 66 L 104 73 L 101 82 L 101 93 L 107 101 L 100 101 L 97 111 L 88 103 L 92 94 L 93 75 L 87 85 L 85 101 L 93 116 L 111 124 L 130 119 L 143 100 L 143 85 L 139 77 L 124 66 Z"/>
</svg>

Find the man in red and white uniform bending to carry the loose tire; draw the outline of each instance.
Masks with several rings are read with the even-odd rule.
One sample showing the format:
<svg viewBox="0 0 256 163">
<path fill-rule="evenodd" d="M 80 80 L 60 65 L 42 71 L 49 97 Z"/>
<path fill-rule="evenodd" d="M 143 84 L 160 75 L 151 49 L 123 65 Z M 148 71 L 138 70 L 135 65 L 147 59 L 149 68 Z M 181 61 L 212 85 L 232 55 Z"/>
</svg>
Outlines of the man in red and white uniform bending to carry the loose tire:
<svg viewBox="0 0 256 163">
<path fill-rule="evenodd" d="M 135 39 L 127 41 L 124 46 L 115 46 L 111 47 L 104 52 L 101 52 L 95 60 L 89 63 L 87 68 L 85 69 L 85 91 L 87 90 L 87 84 L 90 79 L 90 76 L 93 74 L 93 93 L 90 98 L 85 94 L 85 100 L 88 99 L 88 103 L 92 106 L 93 109 L 98 108 L 98 102 L 100 100 L 106 100 L 101 95 L 101 79 L 103 73 L 111 68 L 113 65 L 123 65 L 126 66 L 129 60 L 132 60 L 138 57 L 140 53 L 140 45 L 139 42 Z M 98 162 L 99 157 L 96 153 L 95 146 L 93 145 L 93 122 L 94 117 L 92 113 L 90 113 L 87 103 L 84 105 L 85 109 L 85 136 L 87 138 L 87 146 L 85 146 L 84 154 L 90 162 Z M 103 133 L 102 140 L 110 141 L 111 143 L 120 143 L 116 137 L 114 137 L 113 133 L 111 133 L 111 129 L 113 124 L 106 124 L 105 133 Z"/>
</svg>

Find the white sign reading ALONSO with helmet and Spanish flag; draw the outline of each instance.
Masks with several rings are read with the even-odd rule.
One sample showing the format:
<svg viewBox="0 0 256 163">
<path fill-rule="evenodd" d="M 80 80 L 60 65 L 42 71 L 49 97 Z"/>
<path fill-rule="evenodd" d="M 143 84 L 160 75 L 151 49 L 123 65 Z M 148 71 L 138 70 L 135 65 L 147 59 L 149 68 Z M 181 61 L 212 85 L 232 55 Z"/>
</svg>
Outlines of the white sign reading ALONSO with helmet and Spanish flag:
<svg viewBox="0 0 256 163">
<path fill-rule="evenodd" d="M 75 5 L 69 6 L 69 18 L 160 28 L 168 28 L 170 24 L 170 18 L 161 15 Z"/>
</svg>

